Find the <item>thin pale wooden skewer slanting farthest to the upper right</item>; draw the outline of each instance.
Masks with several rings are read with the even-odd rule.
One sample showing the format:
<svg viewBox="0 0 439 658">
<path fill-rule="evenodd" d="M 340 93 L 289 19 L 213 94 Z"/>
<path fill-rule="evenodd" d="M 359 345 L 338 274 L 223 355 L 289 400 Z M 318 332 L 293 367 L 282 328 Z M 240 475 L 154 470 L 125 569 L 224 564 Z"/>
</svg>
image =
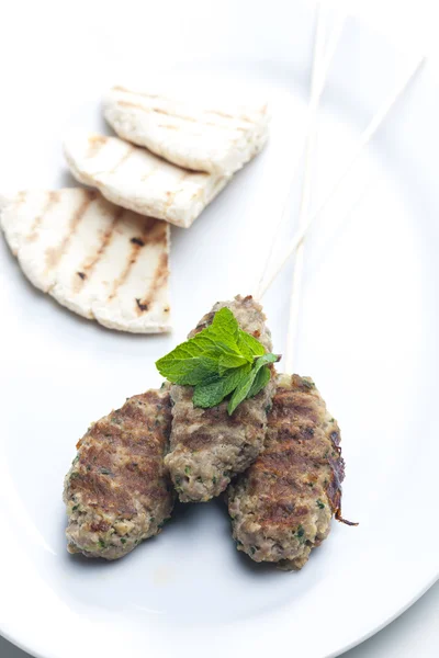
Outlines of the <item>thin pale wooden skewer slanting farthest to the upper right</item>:
<svg viewBox="0 0 439 658">
<path fill-rule="evenodd" d="M 301 242 L 303 241 L 303 239 L 306 235 L 307 228 L 315 222 L 315 219 L 318 217 L 318 215 L 320 215 L 326 209 L 326 206 L 329 204 L 329 202 L 336 195 L 341 183 L 345 181 L 346 177 L 351 172 L 351 170 L 352 170 L 357 159 L 361 155 L 363 148 L 372 139 L 373 135 L 376 133 L 376 131 L 379 129 L 379 127 L 381 126 L 383 121 L 385 120 L 386 115 L 389 114 L 389 112 L 391 111 L 393 105 L 396 103 L 396 101 L 403 94 L 403 92 L 405 91 L 405 89 L 407 88 L 407 86 L 412 81 L 412 79 L 419 71 L 424 61 L 425 61 L 425 56 L 423 56 L 416 60 L 415 65 L 413 65 L 410 67 L 408 75 L 405 76 L 403 82 L 396 87 L 394 92 L 386 99 L 386 101 L 383 103 L 383 105 L 381 106 L 379 112 L 372 118 L 369 126 L 365 128 L 365 131 L 361 135 L 360 143 L 359 143 L 357 149 L 354 150 L 352 157 L 349 159 L 347 164 L 341 170 L 336 183 L 333 185 L 329 193 L 324 198 L 323 203 L 319 205 L 317 211 L 312 215 L 307 227 L 297 229 L 297 231 L 294 235 L 294 237 L 292 238 L 290 245 L 288 246 L 285 251 L 282 253 L 281 258 L 279 259 L 278 266 L 274 269 L 274 271 L 271 272 L 268 281 L 266 281 L 259 287 L 259 290 L 258 290 L 258 292 L 259 292 L 258 298 L 259 299 L 263 297 L 263 295 L 267 293 L 268 288 L 272 285 L 273 281 L 275 280 L 275 277 L 278 276 L 278 274 L 280 273 L 282 268 L 284 266 L 285 262 L 289 260 L 290 256 L 297 249 L 299 245 L 301 245 Z"/>
</svg>

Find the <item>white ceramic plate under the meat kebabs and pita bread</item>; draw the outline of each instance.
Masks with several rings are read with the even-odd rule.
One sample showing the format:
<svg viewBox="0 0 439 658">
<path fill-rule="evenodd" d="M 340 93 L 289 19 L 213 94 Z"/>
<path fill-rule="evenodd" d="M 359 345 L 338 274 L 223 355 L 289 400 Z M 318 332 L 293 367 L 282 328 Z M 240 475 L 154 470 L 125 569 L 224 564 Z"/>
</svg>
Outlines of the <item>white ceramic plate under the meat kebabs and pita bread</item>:
<svg viewBox="0 0 439 658">
<path fill-rule="evenodd" d="M 99 128 L 100 93 L 126 71 L 177 66 L 257 80 L 272 100 L 272 137 L 190 230 L 172 230 L 173 336 L 121 334 L 76 317 L 27 283 L 1 241 L 0 632 L 44 658 L 335 656 L 438 575 L 437 90 L 424 71 L 309 243 L 296 370 L 315 378 L 340 422 L 344 513 L 359 527 L 335 523 L 306 567 L 284 574 L 236 552 L 216 501 L 179 508 L 121 561 L 87 561 L 64 538 L 75 443 L 91 420 L 158 384 L 154 361 L 216 299 L 252 290 L 301 149 L 314 9 L 65 7 L 29 3 L 23 16 L 15 3 L 3 16 L 4 190 L 72 184 L 63 134 Z M 409 59 L 348 21 L 323 99 L 316 205 Z M 279 351 L 288 277 L 266 300 Z"/>
</svg>

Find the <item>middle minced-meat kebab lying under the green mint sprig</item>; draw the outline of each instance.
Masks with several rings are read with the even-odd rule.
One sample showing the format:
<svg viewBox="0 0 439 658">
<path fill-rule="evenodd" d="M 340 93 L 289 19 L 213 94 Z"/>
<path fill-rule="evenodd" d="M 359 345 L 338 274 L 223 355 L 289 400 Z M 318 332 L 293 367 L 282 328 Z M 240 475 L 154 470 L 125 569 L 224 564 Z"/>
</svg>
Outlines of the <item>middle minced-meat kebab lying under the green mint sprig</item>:
<svg viewBox="0 0 439 658">
<path fill-rule="evenodd" d="M 270 351 L 271 336 L 262 307 L 252 297 L 237 296 L 215 304 L 189 337 L 210 325 L 217 310 L 227 307 L 244 331 L 255 336 Z M 193 389 L 172 385 L 172 430 L 166 457 L 180 500 L 202 502 L 225 490 L 230 478 L 245 470 L 260 453 L 267 413 L 274 393 L 274 377 L 256 397 L 241 402 L 228 416 L 227 401 L 212 409 L 194 408 Z"/>
</svg>

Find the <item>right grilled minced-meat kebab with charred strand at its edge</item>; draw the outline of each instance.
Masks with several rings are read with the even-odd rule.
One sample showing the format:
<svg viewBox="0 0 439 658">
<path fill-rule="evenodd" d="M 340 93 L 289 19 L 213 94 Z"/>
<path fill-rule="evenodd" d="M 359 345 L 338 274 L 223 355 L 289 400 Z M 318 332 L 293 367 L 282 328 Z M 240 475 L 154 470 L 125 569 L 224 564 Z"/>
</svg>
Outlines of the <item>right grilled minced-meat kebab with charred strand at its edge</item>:
<svg viewBox="0 0 439 658">
<path fill-rule="evenodd" d="M 229 486 L 239 551 L 300 569 L 340 518 L 345 465 L 337 421 L 308 377 L 281 375 L 263 453 Z"/>
</svg>

